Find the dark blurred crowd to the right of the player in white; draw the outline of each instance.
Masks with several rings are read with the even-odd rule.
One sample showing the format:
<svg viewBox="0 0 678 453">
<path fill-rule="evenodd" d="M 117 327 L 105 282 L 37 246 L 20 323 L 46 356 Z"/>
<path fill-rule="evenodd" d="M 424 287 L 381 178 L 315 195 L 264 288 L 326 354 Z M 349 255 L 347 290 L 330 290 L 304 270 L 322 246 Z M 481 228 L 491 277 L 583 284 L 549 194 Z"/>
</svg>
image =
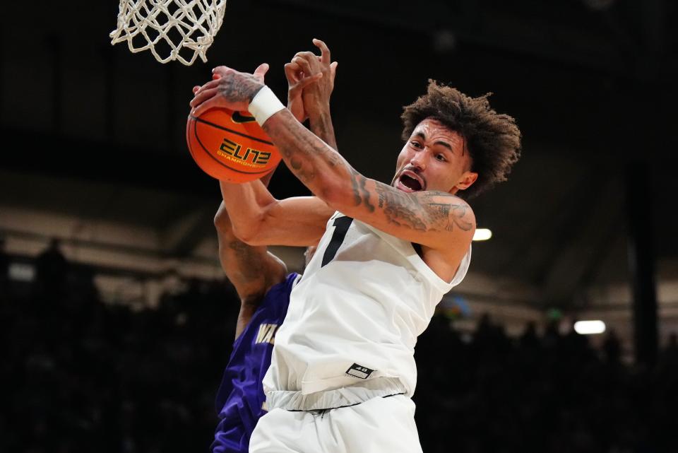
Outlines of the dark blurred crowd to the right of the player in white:
<svg viewBox="0 0 678 453">
<path fill-rule="evenodd" d="M 417 343 L 417 426 L 426 453 L 678 452 L 678 343 L 655 367 L 620 360 L 559 323 L 510 339 L 483 316 L 464 343 L 434 317 Z"/>
</svg>

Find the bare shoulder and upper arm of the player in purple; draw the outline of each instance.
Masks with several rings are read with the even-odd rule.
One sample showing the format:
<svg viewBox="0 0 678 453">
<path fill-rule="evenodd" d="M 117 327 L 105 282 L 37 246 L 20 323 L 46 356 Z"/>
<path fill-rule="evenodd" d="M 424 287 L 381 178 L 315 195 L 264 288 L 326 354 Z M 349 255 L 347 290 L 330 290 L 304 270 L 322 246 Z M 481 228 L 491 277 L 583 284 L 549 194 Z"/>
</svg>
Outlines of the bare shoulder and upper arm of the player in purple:
<svg viewBox="0 0 678 453">
<path fill-rule="evenodd" d="M 287 267 L 283 261 L 266 250 L 251 247 L 233 233 L 224 204 L 214 218 L 219 240 L 219 261 L 240 297 L 240 312 L 235 329 L 237 338 L 249 323 L 252 314 L 271 286 L 285 280 Z"/>
</svg>

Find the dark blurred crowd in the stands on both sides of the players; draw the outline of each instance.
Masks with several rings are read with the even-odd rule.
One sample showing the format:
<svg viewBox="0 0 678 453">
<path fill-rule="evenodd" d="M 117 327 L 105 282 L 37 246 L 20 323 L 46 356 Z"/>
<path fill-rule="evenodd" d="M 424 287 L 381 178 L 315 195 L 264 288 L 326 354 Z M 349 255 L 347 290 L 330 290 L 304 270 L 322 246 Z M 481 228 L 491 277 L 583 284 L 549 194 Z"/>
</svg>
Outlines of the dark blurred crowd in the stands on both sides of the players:
<svg viewBox="0 0 678 453">
<path fill-rule="evenodd" d="M 93 271 L 53 244 L 29 290 L 0 257 L 0 452 L 208 452 L 214 396 L 239 302 L 192 281 L 151 310 L 101 302 Z M 655 367 L 528 324 L 518 338 L 485 315 L 471 335 L 436 315 L 415 352 L 425 453 L 678 452 L 678 343 Z"/>
</svg>

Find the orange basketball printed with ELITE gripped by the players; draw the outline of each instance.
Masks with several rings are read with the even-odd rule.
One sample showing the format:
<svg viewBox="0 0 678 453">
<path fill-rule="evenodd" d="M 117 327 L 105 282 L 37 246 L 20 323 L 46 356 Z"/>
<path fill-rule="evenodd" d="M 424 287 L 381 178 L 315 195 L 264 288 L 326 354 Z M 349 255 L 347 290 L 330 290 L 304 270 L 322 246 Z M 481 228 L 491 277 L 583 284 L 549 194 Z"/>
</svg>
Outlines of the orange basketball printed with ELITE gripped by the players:
<svg viewBox="0 0 678 453">
<path fill-rule="evenodd" d="M 249 112 L 211 109 L 189 115 L 186 141 L 198 167 L 222 181 L 254 181 L 280 162 L 278 148 Z"/>
</svg>

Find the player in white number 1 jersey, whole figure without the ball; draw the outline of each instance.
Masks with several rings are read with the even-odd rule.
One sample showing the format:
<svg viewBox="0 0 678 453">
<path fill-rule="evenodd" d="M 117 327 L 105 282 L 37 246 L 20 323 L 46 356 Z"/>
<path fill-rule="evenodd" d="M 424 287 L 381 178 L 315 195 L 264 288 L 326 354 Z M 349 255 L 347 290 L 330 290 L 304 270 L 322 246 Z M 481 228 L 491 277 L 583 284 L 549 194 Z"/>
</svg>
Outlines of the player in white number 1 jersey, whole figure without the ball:
<svg viewBox="0 0 678 453">
<path fill-rule="evenodd" d="M 311 124 L 328 117 L 329 52 L 300 52 L 288 71 L 304 88 Z M 442 295 L 470 261 L 475 217 L 457 195 L 472 196 L 506 179 L 520 155 L 513 119 L 486 97 L 429 83 L 405 107 L 407 140 L 391 185 L 359 174 L 282 109 L 254 74 L 225 66 L 191 106 L 254 114 L 283 160 L 316 197 L 275 200 L 261 184 L 225 192 L 235 233 L 251 244 L 319 248 L 292 291 L 264 380 L 270 412 L 251 452 L 417 452 L 414 346 Z M 295 76 L 290 77 L 290 72 Z M 323 75 L 318 75 L 323 74 Z"/>
</svg>

